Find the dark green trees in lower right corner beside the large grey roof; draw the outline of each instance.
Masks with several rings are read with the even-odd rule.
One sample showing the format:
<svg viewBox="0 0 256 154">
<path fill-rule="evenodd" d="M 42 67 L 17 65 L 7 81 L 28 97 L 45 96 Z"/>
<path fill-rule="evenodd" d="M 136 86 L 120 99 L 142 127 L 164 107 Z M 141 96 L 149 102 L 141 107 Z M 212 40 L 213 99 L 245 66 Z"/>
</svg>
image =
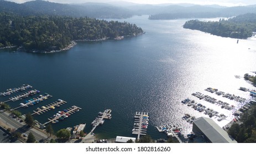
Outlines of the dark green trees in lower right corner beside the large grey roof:
<svg viewBox="0 0 256 154">
<path fill-rule="evenodd" d="M 256 142 L 256 106 L 253 105 L 248 112 L 245 112 L 241 117 L 243 124 L 234 123 L 228 130 L 237 142 Z"/>
</svg>

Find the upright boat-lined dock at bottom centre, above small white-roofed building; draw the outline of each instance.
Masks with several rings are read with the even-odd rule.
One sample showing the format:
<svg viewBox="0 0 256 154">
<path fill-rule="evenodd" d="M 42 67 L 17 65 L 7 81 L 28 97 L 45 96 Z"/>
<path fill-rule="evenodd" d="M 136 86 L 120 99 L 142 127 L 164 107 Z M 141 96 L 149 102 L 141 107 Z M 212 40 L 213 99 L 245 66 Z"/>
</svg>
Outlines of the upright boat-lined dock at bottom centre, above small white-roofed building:
<svg viewBox="0 0 256 154">
<path fill-rule="evenodd" d="M 148 128 L 148 113 L 146 112 L 136 112 L 134 116 L 134 126 L 133 126 L 133 133 L 138 135 L 138 140 L 140 138 L 140 135 L 146 135 L 147 134 L 147 128 Z"/>
</svg>

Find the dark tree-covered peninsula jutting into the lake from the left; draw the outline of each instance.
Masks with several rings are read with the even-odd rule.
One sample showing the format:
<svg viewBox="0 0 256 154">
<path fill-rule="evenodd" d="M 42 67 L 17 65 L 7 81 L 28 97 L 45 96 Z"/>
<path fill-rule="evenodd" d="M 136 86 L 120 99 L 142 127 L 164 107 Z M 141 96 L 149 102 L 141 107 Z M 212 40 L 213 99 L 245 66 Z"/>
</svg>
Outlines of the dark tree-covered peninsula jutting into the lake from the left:
<svg viewBox="0 0 256 154">
<path fill-rule="evenodd" d="M 25 50 L 60 50 L 72 40 L 98 40 L 133 36 L 143 32 L 135 24 L 91 18 L 20 16 L 0 13 L 0 48 L 23 46 Z"/>
</svg>

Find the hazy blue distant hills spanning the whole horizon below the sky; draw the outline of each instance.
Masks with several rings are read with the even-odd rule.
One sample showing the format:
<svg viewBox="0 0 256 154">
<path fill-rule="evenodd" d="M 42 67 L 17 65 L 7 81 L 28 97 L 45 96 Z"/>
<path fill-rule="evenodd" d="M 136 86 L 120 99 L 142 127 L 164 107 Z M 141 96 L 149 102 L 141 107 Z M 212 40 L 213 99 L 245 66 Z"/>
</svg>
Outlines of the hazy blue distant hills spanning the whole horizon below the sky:
<svg viewBox="0 0 256 154">
<path fill-rule="evenodd" d="M 256 13 L 256 5 L 222 7 L 220 5 L 135 4 L 130 2 L 60 4 L 49 1 L 14 3 L 0 0 L 0 12 L 20 15 L 60 15 L 90 18 L 130 18 L 133 15 L 150 15 L 149 19 L 233 17 Z"/>
</svg>

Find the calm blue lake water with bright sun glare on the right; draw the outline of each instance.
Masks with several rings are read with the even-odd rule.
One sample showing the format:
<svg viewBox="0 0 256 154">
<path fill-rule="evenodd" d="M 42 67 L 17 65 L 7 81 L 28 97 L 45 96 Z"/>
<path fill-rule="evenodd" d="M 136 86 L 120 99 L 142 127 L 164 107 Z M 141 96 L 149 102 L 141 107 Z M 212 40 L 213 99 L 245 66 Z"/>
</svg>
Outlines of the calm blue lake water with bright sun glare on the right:
<svg viewBox="0 0 256 154">
<path fill-rule="evenodd" d="M 23 114 L 32 113 L 58 98 L 67 101 L 59 109 L 34 116 L 40 123 L 45 123 L 62 109 L 74 105 L 82 108 L 64 121 L 53 124 L 55 130 L 86 123 L 85 132 L 89 132 L 98 112 L 110 108 L 112 119 L 105 120 L 103 126 L 94 131 L 102 138 L 134 136 L 133 116 L 136 111 L 149 113 L 148 134 L 154 139 L 165 137 L 155 128 L 160 124 L 177 123 L 189 133 L 192 127 L 181 117 L 185 113 L 196 117 L 205 114 L 182 105 L 181 101 L 187 97 L 230 116 L 218 122 L 221 127 L 227 124 L 232 111 L 198 100 L 191 94 L 198 91 L 236 107 L 241 106 L 204 89 L 215 87 L 249 98 L 248 92 L 238 89 L 241 86 L 254 87 L 234 75 L 243 77 L 245 73 L 255 71 L 255 38 L 237 43 L 237 39 L 183 29 L 186 19 L 147 18 L 126 19 L 142 27 L 146 33 L 123 40 L 79 42 L 69 51 L 50 54 L 0 50 L 0 91 L 30 84 L 41 93 L 53 95 L 38 105 L 19 109 Z M 6 100 L 8 97 L 0 97 L 0 101 Z M 8 102 L 8 105 L 17 107 L 20 102 L 24 100 Z M 213 119 L 217 122 L 217 118 Z"/>
</svg>

